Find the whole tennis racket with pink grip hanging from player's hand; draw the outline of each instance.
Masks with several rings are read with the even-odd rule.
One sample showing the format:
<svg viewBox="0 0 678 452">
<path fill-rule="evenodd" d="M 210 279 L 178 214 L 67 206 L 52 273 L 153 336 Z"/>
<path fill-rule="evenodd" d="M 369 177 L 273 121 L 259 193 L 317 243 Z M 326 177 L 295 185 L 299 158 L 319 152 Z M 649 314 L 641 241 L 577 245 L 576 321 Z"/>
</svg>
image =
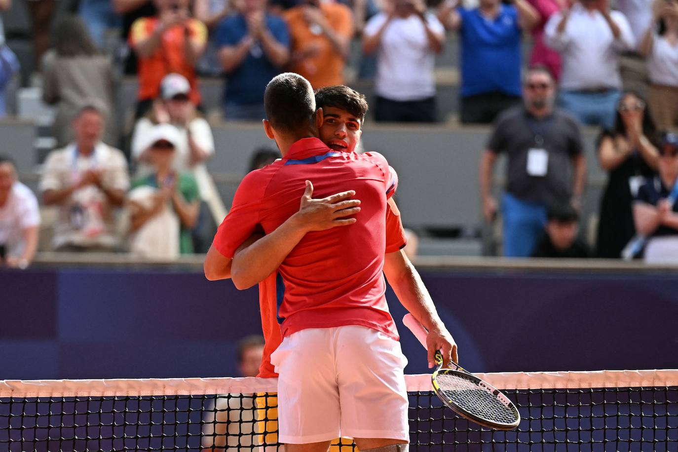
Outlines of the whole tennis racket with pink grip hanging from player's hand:
<svg viewBox="0 0 678 452">
<path fill-rule="evenodd" d="M 412 314 L 406 314 L 403 323 L 426 348 L 428 331 Z M 431 375 L 435 394 L 458 415 L 483 427 L 495 430 L 513 430 L 520 424 L 520 413 L 500 390 L 484 382 L 463 367 L 450 362 L 456 369 L 441 369 L 443 355 L 435 352 L 437 367 Z"/>
</svg>

